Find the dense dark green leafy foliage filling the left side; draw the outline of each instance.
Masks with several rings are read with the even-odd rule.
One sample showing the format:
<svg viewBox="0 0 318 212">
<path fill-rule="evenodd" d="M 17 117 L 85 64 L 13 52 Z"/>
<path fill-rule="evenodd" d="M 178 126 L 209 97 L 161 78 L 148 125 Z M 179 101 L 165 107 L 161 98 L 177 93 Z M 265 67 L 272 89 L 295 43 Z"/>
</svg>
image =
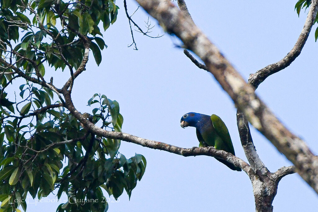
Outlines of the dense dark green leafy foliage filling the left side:
<svg viewBox="0 0 318 212">
<path fill-rule="evenodd" d="M 114 198 L 125 189 L 130 198 L 146 159 L 140 154 L 126 159 L 119 153 L 120 140 L 91 133 L 66 101 L 74 79 L 85 70 L 87 50 L 101 63 L 100 51 L 107 45 L 99 37 L 99 23 L 107 30 L 119 7 L 114 0 L 0 4 L 0 211 L 25 211 L 27 195 L 41 199 L 53 191 L 73 201 L 57 211 L 107 211 L 102 188 Z M 69 69 L 63 88 L 55 87 L 52 78 L 45 80 L 48 66 Z M 17 78 L 25 82 L 17 84 Z M 7 91 L 14 85 L 20 90 L 15 99 Z M 98 106 L 92 114 L 85 114 L 91 123 L 121 132 L 116 100 L 96 93 L 88 101 L 93 105 Z M 98 201 L 86 201 L 91 199 Z"/>
</svg>

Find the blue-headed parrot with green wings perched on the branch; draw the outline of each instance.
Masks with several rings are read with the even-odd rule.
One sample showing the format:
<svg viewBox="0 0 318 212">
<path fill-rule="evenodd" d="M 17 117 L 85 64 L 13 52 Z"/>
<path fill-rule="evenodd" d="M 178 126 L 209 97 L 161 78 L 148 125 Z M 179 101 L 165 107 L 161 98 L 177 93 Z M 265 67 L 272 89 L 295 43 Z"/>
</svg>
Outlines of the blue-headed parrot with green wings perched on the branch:
<svg viewBox="0 0 318 212">
<path fill-rule="evenodd" d="M 186 113 L 180 120 L 180 125 L 184 127 L 195 127 L 197 129 L 197 139 L 199 147 L 214 147 L 235 155 L 230 133 L 225 123 L 215 114 L 211 116 L 201 113 Z M 242 171 L 241 168 L 234 166 L 223 159 L 216 158 L 232 170 Z"/>
</svg>

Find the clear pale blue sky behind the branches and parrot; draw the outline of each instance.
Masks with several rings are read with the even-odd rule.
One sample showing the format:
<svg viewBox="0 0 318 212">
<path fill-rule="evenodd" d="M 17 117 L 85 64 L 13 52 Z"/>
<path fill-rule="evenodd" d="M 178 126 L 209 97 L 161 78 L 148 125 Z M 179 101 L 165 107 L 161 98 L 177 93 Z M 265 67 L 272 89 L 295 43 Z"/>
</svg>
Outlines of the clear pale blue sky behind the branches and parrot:
<svg viewBox="0 0 318 212">
<path fill-rule="evenodd" d="M 131 14 L 137 5 L 131 0 L 127 3 Z M 250 73 L 280 60 L 292 49 L 308 11 L 301 11 L 298 17 L 296 1 L 287 0 L 186 3 L 195 23 L 246 80 Z M 180 147 L 198 145 L 195 129 L 180 127 L 184 113 L 215 113 L 229 128 L 236 155 L 247 161 L 237 131 L 236 109 L 218 82 L 193 65 L 183 49 L 175 47 L 180 41 L 168 34 L 151 39 L 134 32 L 139 50 L 127 48 L 131 43 L 128 20 L 123 3 L 117 4 L 117 21 L 104 33 L 108 48 L 102 51 L 102 63 L 97 67 L 90 53 L 87 70 L 75 81 L 72 97 L 77 109 L 90 112 L 87 100 L 93 93 L 105 94 L 120 104 L 123 132 Z M 140 8 L 133 18 L 143 26 L 148 14 Z M 164 33 L 156 20 L 150 20 L 156 25 L 153 35 Z M 294 63 L 257 89 L 261 99 L 314 154 L 318 152 L 316 27 Z M 251 131 L 258 154 L 270 171 L 291 165 L 260 133 Z M 212 157 L 185 158 L 127 142 L 121 143 L 120 152 L 126 157 L 143 154 L 147 168 L 130 201 L 124 191 L 119 202 L 109 203 L 109 211 L 255 211 L 248 176 Z M 299 175 L 292 174 L 280 181 L 273 207 L 274 211 L 314 211 L 317 203 L 315 192 Z M 45 208 L 51 212 L 56 205 L 29 204 L 28 211 Z"/>
</svg>

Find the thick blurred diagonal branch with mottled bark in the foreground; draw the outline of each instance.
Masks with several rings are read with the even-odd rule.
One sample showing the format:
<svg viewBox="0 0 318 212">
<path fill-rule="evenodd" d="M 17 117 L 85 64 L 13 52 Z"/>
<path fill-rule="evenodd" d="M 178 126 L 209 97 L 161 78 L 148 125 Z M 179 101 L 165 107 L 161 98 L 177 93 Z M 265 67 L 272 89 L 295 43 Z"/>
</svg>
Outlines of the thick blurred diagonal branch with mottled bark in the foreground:
<svg viewBox="0 0 318 212">
<path fill-rule="evenodd" d="M 249 122 L 296 166 L 297 172 L 318 193 L 318 160 L 306 143 L 291 133 L 259 99 L 218 48 L 168 0 L 136 0 L 169 33 L 200 57 L 209 72 L 230 95 Z"/>
</svg>

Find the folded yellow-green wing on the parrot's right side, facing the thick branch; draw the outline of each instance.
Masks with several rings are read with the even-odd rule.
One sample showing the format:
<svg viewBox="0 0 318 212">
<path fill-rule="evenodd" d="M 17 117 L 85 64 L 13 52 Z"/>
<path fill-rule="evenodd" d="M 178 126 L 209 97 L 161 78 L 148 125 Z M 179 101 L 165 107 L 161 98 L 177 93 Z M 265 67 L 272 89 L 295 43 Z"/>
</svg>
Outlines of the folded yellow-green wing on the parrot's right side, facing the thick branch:
<svg viewBox="0 0 318 212">
<path fill-rule="evenodd" d="M 225 150 L 226 152 L 229 152 L 235 155 L 231 136 L 230 136 L 229 130 L 225 126 L 225 123 L 222 121 L 220 117 L 218 117 L 215 114 L 211 115 L 211 121 L 215 129 L 215 132 L 221 138 L 221 141 L 218 141 L 218 139 L 215 141 L 216 143 L 214 147 L 216 149 Z"/>
</svg>

